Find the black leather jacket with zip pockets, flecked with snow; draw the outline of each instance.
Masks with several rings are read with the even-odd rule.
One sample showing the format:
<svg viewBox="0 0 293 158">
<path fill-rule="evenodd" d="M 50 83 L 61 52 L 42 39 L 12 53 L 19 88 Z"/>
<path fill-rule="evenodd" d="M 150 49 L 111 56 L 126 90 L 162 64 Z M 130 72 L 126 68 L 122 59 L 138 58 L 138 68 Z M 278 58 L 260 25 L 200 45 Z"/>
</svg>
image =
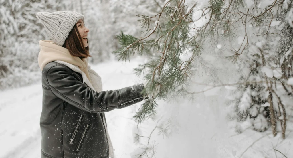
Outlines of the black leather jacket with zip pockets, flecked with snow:
<svg viewBox="0 0 293 158">
<path fill-rule="evenodd" d="M 143 84 L 96 92 L 80 73 L 56 62 L 42 71 L 41 158 L 107 158 L 103 112 L 147 99 Z"/>
</svg>

